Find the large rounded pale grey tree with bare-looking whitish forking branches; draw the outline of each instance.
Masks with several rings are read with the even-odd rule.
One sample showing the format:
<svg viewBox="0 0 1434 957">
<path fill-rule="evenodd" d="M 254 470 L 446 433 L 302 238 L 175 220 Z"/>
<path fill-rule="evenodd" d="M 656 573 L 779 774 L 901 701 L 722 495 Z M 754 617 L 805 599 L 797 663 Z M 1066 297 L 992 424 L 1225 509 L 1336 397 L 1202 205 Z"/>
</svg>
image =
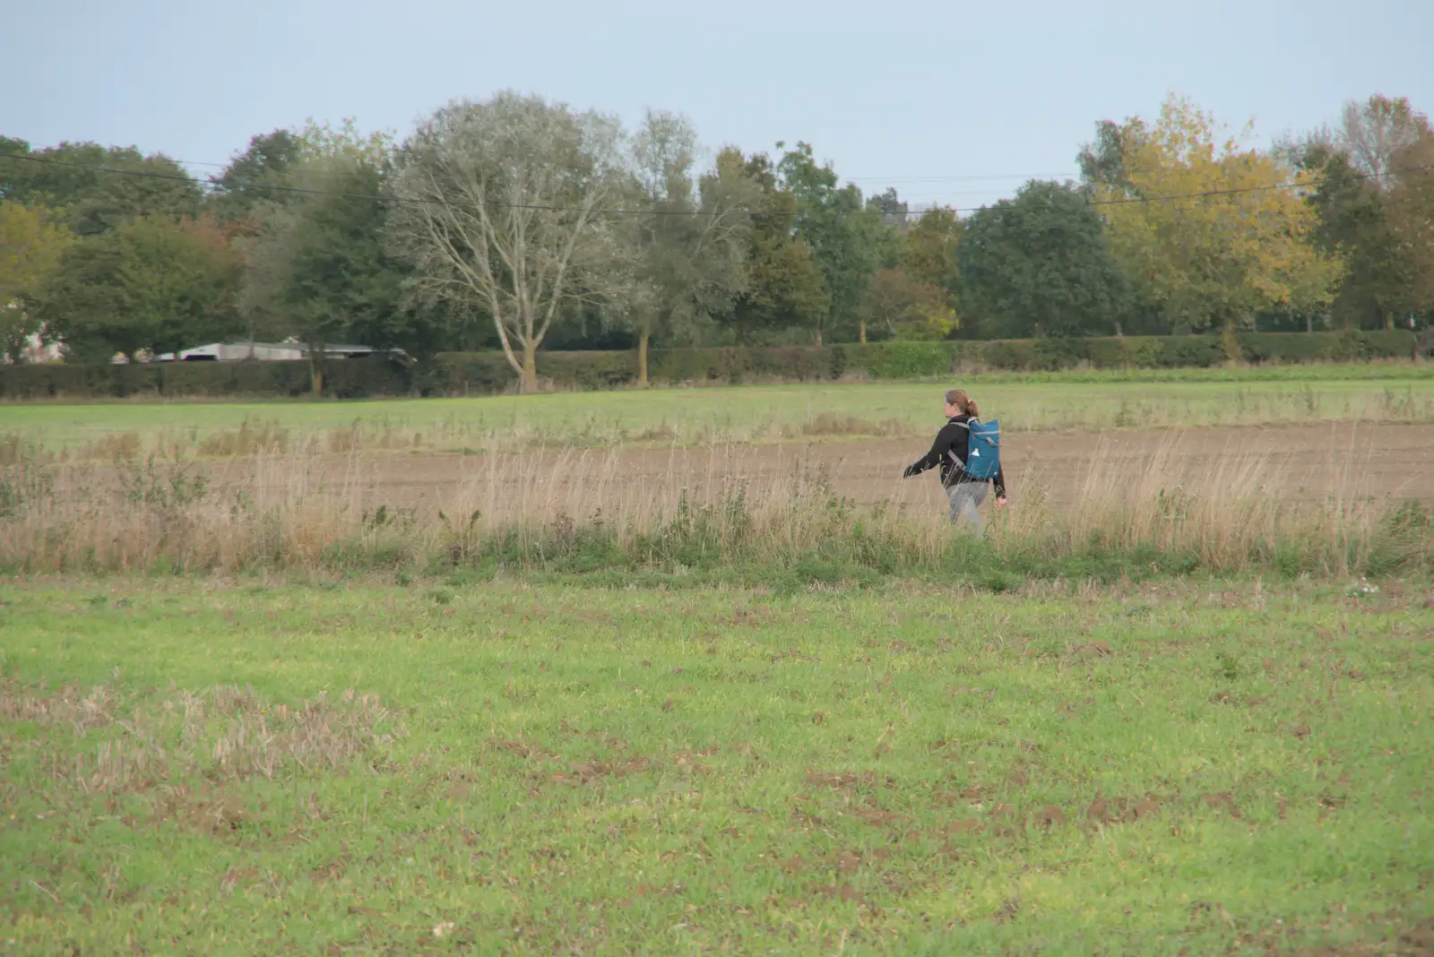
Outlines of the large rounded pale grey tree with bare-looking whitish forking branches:
<svg viewBox="0 0 1434 957">
<path fill-rule="evenodd" d="M 488 312 L 523 391 L 554 322 L 621 265 L 624 155 L 615 119 L 512 92 L 450 103 L 400 150 L 389 235 L 413 291 Z"/>
</svg>

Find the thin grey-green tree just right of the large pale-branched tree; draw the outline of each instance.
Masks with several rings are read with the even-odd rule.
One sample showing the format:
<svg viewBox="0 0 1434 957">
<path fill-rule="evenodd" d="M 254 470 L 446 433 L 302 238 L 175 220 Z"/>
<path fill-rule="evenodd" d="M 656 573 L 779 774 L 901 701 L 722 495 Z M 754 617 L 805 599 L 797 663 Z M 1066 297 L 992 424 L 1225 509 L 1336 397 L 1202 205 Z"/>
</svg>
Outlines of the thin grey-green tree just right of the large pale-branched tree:
<svg viewBox="0 0 1434 957">
<path fill-rule="evenodd" d="M 757 191 L 731 163 L 693 181 L 697 135 L 671 113 L 648 110 L 632 145 L 638 203 L 632 216 L 634 285 L 622 298 L 647 384 L 652 335 L 693 344 L 731 311 L 747 284 L 746 254 Z"/>
</svg>

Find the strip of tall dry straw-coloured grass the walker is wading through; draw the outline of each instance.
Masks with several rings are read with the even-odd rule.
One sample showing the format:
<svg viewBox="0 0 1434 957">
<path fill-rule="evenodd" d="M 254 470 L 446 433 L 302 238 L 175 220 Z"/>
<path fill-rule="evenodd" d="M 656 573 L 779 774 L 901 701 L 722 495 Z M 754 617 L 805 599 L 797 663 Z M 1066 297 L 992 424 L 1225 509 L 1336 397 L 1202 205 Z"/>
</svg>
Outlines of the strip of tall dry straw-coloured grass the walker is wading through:
<svg viewBox="0 0 1434 957">
<path fill-rule="evenodd" d="M 1180 556 L 1209 572 L 1278 564 L 1359 574 L 1431 557 L 1431 524 L 1359 487 L 1349 468 L 1319 501 L 1296 503 L 1276 454 L 1177 463 L 1179 436 L 1139 464 L 1096 447 L 1080 494 L 1055 507 L 1038 473 L 988 509 L 998 562 L 1081 554 Z M 0 468 L 0 567 L 13 570 L 238 570 L 426 567 L 490 560 L 640 567 L 693 562 L 782 566 L 823 554 L 883 570 L 948 562 L 972 546 L 912 483 L 860 509 L 829 477 L 793 464 L 753 480 L 741 447 L 673 450 L 665 474 L 634 480 L 618 453 L 565 450 L 475 458 L 427 511 L 394 509 L 364 458 L 260 453 L 206 481 L 184 460 L 113 468 L 19 461 Z M 694 557 L 695 556 L 695 557 Z"/>
</svg>

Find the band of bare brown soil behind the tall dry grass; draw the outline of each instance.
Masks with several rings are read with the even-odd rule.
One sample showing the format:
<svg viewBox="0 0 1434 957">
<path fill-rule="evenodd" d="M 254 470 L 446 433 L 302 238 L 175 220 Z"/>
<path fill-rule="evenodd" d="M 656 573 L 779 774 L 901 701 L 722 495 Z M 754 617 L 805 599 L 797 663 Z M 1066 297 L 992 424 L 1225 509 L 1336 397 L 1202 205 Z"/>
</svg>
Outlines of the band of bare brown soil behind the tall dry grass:
<svg viewBox="0 0 1434 957">
<path fill-rule="evenodd" d="M 744 481 L 779 483 L 797 468 L 820 470 L 835 493 L 860 504 L 892 499 L 941 500 L 931 476 L 901 480 L 902 468 L 926 446 L 909 438 L 823 440 L 727 448 L 652 448 L 521 454 L 416 453 L 363 460 L 333 456 L 318 481 L 363 487 L 367 501 L 390 507 L 442 507 L 466 481 L 511 489 L 513 497 L 601 494 L 630 497 L 637 490 L 713 487 Z M 1434 425 L 1315 424 L 1239 428 L 1141 430 L 1106 434 L 1032 433 L 1007 437 L 1002 460 L 1012 499 L 1022 481 L 1038 483 L 1054 504 L 1080 493 L 1094 460 L 1116 466 L 1136 481 L 1159 458 L 1164 471 L 1209 474 L 1222 458 L 1263 460 L 1266 481 L 1291 496 L 1358 493 L 1434 501 Z M 222 484 L 244 466 L 209 466 Z M 541 493 L 538 491 L 541 489 Z"/>
</svg>

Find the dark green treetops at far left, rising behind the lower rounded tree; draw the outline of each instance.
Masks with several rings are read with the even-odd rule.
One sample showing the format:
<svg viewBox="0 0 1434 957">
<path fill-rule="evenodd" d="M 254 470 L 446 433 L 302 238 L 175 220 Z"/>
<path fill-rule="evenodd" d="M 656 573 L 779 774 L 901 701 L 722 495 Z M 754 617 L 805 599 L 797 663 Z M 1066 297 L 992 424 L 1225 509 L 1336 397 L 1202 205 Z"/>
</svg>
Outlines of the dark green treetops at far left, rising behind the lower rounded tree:
<svg viewBox="0 0 1434 957">
<path fill-rule="evenodd" d="M 158 153 L 99 143 L 34 150 L 19 139 L 0 140 L 0 198 L 49 206 L 77 236 L 102 234 L 133 216 L 195 216 L 204 199 L 199 183 Z"/>
</svg>

